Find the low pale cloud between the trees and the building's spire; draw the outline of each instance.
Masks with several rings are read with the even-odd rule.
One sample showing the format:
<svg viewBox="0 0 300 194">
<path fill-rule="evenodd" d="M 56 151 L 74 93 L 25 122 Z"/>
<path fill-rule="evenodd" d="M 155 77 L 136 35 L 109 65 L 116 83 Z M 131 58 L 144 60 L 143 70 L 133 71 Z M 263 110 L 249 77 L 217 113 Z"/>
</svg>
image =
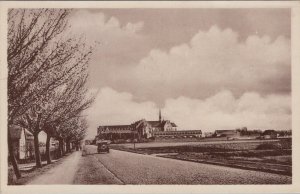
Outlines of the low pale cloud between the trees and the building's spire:
<svg viewBox="0 0 300 194">
<path fill-rule="evenodd" d="M 130 93 L 102 88 L 87 112 L 88 135 L 96 135 L 99 125 L 127 125 L 142 118 L 156 119 L 157 112 L 153 102 L 137 103 Z"/>
</svg>

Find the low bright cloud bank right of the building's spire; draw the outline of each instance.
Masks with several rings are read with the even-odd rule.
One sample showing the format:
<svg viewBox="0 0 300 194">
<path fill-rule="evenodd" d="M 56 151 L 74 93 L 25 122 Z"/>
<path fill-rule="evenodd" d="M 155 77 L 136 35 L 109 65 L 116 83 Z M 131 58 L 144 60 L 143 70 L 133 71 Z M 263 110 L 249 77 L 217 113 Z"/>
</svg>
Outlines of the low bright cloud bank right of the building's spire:
<svg viewBox="0 0 300 194">
<path fill-rule="evenodd" d="M 204 100 L 168 99 L 163 109 L 183 129 L 290 129 L 291 98 L 288 95 L 261 96 L 244 93 L 240 98 L 224 90 Z"/>
</svg>

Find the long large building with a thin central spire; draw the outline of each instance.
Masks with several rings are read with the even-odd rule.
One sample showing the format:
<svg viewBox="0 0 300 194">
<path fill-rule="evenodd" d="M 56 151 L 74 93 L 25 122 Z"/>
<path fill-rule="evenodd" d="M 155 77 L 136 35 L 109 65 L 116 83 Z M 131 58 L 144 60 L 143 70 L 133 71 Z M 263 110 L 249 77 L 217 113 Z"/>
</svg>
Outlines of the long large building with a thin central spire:
<svg viewBox="0 0 300 194">
<path fill-rule="evenodd" d="M 201 130 L 177 130 L 177 125 L 169 120 L 164 120 L 159 111 L 157 121 L 145 119 L 136 121 L 130 125 L 106 125 L 99 126 L 97 139 L 150 139 L 155 137 L 201 137 Z"/>
</svg>

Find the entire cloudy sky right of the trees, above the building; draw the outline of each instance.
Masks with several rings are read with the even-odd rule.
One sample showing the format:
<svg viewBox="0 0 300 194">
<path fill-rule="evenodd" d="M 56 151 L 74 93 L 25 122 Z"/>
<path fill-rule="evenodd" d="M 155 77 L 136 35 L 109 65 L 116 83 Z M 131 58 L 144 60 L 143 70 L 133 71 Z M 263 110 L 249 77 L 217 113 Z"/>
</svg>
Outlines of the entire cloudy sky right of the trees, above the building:
<svg viewBox="0 0 300 194">
<path fill-rule="evenodd" d="M 78 9 L 97 44 L 88 136 L 99 125 L 164 119 L 178 129 L 290 129 L 289 9 Z"/>
</svg>

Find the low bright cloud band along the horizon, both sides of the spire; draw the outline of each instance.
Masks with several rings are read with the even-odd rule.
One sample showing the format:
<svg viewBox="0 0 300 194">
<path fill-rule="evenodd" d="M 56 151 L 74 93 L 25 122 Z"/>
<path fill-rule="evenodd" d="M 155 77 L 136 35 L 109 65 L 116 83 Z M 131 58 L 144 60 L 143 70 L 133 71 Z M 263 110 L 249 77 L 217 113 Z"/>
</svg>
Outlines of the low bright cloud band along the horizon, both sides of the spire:
<svg viewBox="0 0 300 194">
<path fill-rule="evenodd" d="M 291 98 L 288 95 L 261 96 L 244 93 L 240 98 L 223 90 L 206 99 L 170 98 L 162 108 L 164 119 L 175 122 L 179 129 L 290 129 Z M 132 94 L 102 88 L 88 110 L 89 134 L 99 125 L 130 124 L 139 119 L 158 119 L 154 102 L 135 102 Z M 92 134 L 92 135 L 91 135 Z"/>
</svg>

